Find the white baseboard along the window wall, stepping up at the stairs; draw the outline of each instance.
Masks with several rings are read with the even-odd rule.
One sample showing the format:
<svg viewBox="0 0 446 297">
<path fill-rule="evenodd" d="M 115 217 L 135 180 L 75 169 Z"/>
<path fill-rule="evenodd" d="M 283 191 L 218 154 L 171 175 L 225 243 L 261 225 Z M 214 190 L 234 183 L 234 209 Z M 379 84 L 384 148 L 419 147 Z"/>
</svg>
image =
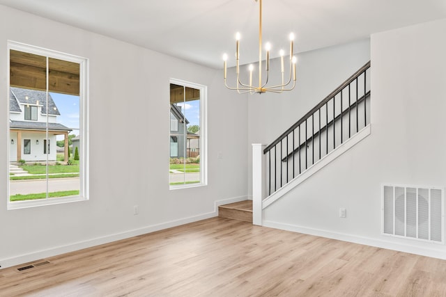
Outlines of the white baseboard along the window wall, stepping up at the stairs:
<svg viewBox="0 0 446 297">
<path fill-rule="evenodd" d="M 10 257 L 6 259 L 0 259 L 1 268 L 8 268 L 11 266 L 16 266 L 24 263 L 35 262 L 39 259 L 44 259 L 47 257 L 53 257 L 56 255 L 65 254 L 66 252 L 74 252 L 75 250 L 82 250 L 83 248 L 91 248 L 93 246 L 99 246 L 101 244 L 110 243 L 113 241 L 118 241 L 121 239 L 128 239 L 133 236 L 138 236 L 142 234 L 147 234 L 151 232 L 156 232 L 164 230 L 171 227 L 176 227 L 179 225 L 185 225 L 187 223 L 197 222 L 198 220 L 205 220 L 206 218 L 213 218 L 218 216 L 218 206 L 222 204 L 229 204 L 233 202 L 239 202 L 247 200 L 247 196 L 240 196 L 234 198 L 228 198 L 224 200 L 217 200 L 214 203 L 214 210 L 206 214 L 199 214 L 197 216 L 190 216 L 186 218 L 180 218 L 178 220 L 170 220 L 168 222 L 159 223 L 155 225 L 149 225 L 146 227 L 141 227 L 134 230 L 128 230 L 125 232 L 119 232 L 116 234 L 109 234 L 106 236 L 100 236 L 95 239 L 88 239 L 86 241 L 79 241 L 76 243 L 70 243 L 66 246 L 56 246 L 54 248 L 49 248 L 47 250 L 38 250 L 36 252 L 31 252 L 24 255 L 17 255 L 16 257 Z"/>
</svg>

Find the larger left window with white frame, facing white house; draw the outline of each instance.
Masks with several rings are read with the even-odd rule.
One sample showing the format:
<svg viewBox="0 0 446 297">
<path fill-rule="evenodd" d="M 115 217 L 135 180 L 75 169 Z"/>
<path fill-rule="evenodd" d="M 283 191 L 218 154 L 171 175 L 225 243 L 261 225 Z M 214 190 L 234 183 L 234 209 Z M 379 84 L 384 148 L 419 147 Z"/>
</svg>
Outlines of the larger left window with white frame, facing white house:
<svg viewBox="0 0 446 297">
<path fill-rule="evenodd" d="M 8 54 L 8 158 L 27 172 L 10 172 L 8 209 L 87 200 L 88 60 L 17 42 Z M 31 191 L 24 178 L 36 179 Z"/>
</svg>

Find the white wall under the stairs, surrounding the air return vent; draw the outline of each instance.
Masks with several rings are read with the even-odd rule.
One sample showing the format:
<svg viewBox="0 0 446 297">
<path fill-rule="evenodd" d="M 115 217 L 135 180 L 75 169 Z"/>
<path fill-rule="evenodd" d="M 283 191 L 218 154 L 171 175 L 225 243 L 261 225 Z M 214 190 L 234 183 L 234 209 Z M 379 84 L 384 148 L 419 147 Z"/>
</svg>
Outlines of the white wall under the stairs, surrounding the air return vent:
<svg viewBox="0 0 446 297">
<path fill-rule="evenodd" d="M 371 136 L 266 209 L 266 225 L 446 258 L 380 234 L 381 184 L 446 184 L 445 31 L 443 19 L 371 36 Z"/>
</svg>

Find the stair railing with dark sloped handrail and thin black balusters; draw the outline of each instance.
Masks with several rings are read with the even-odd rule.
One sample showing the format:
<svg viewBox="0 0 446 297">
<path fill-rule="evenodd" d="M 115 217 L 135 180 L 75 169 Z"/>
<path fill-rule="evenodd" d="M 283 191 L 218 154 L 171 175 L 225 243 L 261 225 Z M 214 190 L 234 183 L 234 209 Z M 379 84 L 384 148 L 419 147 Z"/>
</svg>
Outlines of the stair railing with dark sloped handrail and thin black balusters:
<svg viewBox="0 0 446 297">
<path fill-rule="evenodd" d="M 268 145 L 268 195 L 294 179 L 370 122 L 370 61 Z"/>
</svg>

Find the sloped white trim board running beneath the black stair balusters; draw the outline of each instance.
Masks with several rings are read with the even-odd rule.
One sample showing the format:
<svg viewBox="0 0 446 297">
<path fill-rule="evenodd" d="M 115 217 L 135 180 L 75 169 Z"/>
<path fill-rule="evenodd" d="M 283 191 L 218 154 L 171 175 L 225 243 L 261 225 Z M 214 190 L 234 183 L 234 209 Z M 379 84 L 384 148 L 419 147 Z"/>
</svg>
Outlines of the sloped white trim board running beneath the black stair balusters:
<svg viewBox="0 0 446 297">
<path fill-rule="evenodd" d="M 362 141 L 362 139 L 366 138 L 371 133 L 371 125 L 367 125 L 367 127 L 364 127 L 360 131 L 357 132 L 357 134 L 353 135 L 350 139 L 348 139 L 346 142 L 342 143 L 338 147 L 336 147 L 336 150 L 332 150 L 329 154 L 324 156 L 322 159 L 314 163 L 313 166 L 302 172 L 302 174 L 298 175 L 294 179 L 291 179 L 291 181 L 288 184 L 285 184 L 282 186 L 282 188 L 279 188 L 279 190 L 272 193 L 268 198 L 263 200 L 262 203 L 262 209 L 266 209 L 269 207 L 272 203 L 279 200 L 283 195 L 291 191 L 293 188 L 298 186 L 299 184 L 302 184 L 302 182 L 305 182 L 305 180 L 314 173 L 318 172 L 322 168 L 328 165 L 328 163 L 332 162 L 334 159 L 336 159 L 338 156 L 341 156 L 341 154 L 344 154 L 344 152 L 351 149 L 351 147 L 355 146 L 357 143 Z"/>
</svg>

